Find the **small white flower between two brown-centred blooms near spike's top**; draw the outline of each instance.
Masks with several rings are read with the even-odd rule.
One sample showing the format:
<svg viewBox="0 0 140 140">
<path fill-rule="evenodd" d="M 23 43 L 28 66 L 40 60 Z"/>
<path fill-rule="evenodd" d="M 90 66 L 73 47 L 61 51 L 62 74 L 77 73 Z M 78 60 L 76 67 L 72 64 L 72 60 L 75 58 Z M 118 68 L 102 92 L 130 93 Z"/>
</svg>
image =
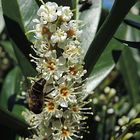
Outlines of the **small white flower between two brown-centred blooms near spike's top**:
<svg viewBox="0 0 140 140">
<path fill-rule="evenodd" d="M 52 43 L 59 43 L 64 42 L 67 38 L 67 33 L 61 29 L 58 29 L 54 34 L 51 36 Z"/>
</svg>

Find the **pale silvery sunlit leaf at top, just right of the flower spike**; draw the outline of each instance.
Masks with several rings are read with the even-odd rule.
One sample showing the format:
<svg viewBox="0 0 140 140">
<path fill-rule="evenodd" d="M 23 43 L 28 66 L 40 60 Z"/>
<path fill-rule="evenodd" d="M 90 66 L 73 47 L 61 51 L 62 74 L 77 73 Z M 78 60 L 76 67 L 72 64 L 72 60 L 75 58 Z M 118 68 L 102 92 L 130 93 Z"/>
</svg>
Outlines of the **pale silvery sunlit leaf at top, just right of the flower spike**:
<svg viewBox="0 0 140 140">
<path fill-rule="evenodd" d="M 82 20 L 84 27 L 82 28 L 81 46 L 86 54 L 91 42 L 94 39 L 98 28 L 98 23 L 101 15 L 101 0 L 92 0 L 90 9 L 79 13 L 79 19 Z"/>
</svg>

